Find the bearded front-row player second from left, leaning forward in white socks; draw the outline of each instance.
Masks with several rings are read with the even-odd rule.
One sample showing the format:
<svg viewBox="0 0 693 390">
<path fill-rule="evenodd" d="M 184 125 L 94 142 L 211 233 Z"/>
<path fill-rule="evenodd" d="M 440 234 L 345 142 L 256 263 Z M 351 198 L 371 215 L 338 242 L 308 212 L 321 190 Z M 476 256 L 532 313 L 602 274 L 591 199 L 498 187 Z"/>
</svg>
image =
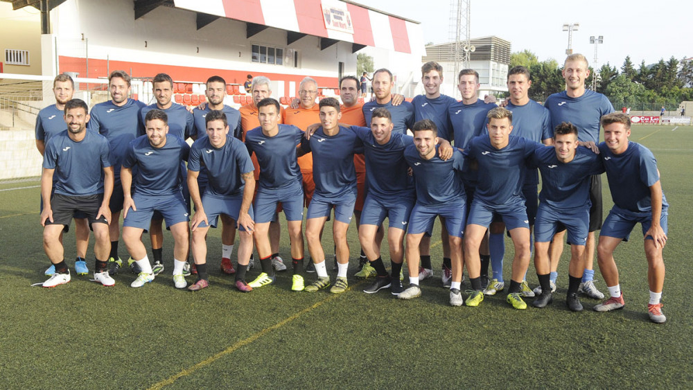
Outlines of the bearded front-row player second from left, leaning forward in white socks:
<svg viewBox="0 0 693 390">
<path fill-rule="evenodd" d="M 183 266 L 188 254 L 189 211 L 183 200 L 180 163 L 187 161 L 190 147 L 168 132 L 168 116 L 163 110 L 151 109 L 144 123 L 146 134 L 130 142 L 121 169 L 123 241 L 141 269 L 130 286 L 142 287 L 157 275 L 142 243 L 142 233 L 158 211 L 173 235 L 173 283 L 176 288 L 185 288 L 188 283 Z"/>
</svg>

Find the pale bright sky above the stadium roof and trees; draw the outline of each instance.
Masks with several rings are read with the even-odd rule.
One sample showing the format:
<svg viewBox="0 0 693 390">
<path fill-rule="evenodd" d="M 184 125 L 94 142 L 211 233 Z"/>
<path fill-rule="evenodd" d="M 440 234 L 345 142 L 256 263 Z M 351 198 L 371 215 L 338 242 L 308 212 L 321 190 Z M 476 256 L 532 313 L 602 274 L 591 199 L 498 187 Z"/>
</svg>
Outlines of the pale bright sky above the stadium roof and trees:
<svg viewBox="0 0 693 390">
<path fill-rule="evenodd" d="M 450 42 L 450 2 L 457 0 L 356 0 L 420 21 L 423 42 Z M 568 33 L 563 24 L 579 23 L 572 33 L 574 53 L 583 53 L 593 65 L 595 45 L 591 35 L 603 35 L 597 47 L 597 66 L 609 62 L 618 69 L 626 55 L 635 68 L 646 64 L 693 57 L 693 1 L 471 1 L 471 37 L 496 35 L 511 42 L 513 52 L 525 49 L 540 61 L 553 58 L 563 62 Z M 425 4 L 425 5 L 424 5 Z"/>
</svg>

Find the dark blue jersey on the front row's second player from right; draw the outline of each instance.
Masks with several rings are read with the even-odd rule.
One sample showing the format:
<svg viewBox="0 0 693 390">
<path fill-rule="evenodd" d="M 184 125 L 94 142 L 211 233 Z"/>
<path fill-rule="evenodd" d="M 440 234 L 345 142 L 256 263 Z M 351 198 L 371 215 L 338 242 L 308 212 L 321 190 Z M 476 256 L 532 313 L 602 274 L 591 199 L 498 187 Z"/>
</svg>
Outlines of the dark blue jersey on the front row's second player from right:
<svg viewBox="0 0 693 390">
<path fill-rule="evenodd" d="M 539 200 L 554 209 L 572 211 L 591 206 L 590 176 L 604 172 L 602 159 L 588 148 L 577 148 L 569 163 L 556 158 L 556 148 L 539 146 L 530 166 L 541 172 Z"/>
</svg>

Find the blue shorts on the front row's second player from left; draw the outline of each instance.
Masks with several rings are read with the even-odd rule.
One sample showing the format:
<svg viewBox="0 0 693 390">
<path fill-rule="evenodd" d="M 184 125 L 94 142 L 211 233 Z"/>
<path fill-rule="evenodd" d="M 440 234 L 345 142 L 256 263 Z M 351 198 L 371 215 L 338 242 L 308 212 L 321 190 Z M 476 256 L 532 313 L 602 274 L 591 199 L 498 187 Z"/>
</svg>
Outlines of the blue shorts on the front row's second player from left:
<svg viewBox="0 0 693 390">
<path fill-rule="evenodd" d="M 166 220 L 166 229 L 180 222 L 188 222 L 189 215 L 186 209 L 183 195 L 175 193 L 173 195 L 139 195 L 132 196 L 137 211 L 128 210 L 128 216 L 123 220 L 123 227 L 136 227 L 147 231 L 152 221 L 155 211 L 159 212 Z"/>
</svg>

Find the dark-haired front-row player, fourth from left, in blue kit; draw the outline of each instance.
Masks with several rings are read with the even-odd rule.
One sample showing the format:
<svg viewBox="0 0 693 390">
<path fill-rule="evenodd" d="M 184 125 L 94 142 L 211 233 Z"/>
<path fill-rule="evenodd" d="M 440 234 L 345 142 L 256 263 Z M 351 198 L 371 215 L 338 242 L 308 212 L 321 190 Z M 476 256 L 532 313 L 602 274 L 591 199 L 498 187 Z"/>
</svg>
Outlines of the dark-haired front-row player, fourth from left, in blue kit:
<svg viewBox="0 0 693 390">
<path fill-rule="evenodd" d="M 297 145 L 303 138 L 303 130 L 292 125 L 279 124 L 279 102 L 264 98 L 257 103 L 260 127 L 245 134 L 245 146 L 249 154 L 255 154 L 260 164 L 260 182 L 255 197 L 255 246 L 260 256 L 262 273 L 248 283 L 252 288 L 274 283 L 272 249 L 267 230 L 270 221 L 281 203 L 289 231 L 293 276 L 291 290 L 303 291 L 304 240 L 303 224 L 304 194 L 301 185 L 301 170 L 297 161 Z"/>
</svg>

